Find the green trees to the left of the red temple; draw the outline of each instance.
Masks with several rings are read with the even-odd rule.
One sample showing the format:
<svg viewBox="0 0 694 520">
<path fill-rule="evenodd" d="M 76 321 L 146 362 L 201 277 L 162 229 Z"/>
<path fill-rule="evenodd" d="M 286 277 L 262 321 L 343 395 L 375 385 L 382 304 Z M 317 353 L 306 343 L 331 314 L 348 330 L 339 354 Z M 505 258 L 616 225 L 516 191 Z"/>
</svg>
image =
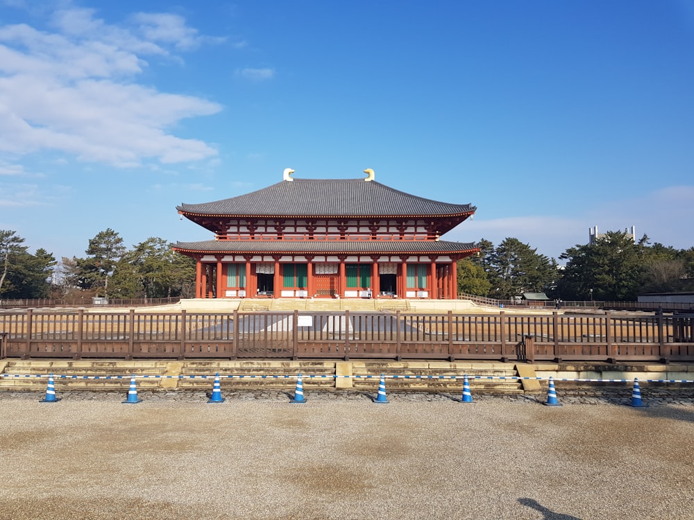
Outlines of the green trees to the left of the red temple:
<svg viewBox="0 0 694 520">
<path fill-rule="evenodd" d="M 195 261 L 151 237 L 128 249 L 113 229 L 90 239 L 85 257 L 58 263 L 43 249 L 28 252 L 14 231 L 0 230 L 2 298 L 163 298 L 194 296 Z"/>
</svg>

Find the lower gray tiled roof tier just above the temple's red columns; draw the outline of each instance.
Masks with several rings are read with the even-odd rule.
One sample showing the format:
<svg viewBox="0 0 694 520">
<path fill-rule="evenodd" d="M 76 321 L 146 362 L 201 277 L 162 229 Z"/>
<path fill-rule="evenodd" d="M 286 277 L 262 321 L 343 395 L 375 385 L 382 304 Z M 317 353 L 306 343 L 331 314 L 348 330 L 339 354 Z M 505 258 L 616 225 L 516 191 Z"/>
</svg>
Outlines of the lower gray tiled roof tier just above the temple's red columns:
<svg viewBox="0 0 694 520">
<path fill-rule="evenodd" d="M 313 254 L 462 254 L 475 250 L 472 243 L 448 241 L 216 241 L 177 242 L 174 249 L 185 252 L 243 253 L 313 253 Z"/>
</svg>

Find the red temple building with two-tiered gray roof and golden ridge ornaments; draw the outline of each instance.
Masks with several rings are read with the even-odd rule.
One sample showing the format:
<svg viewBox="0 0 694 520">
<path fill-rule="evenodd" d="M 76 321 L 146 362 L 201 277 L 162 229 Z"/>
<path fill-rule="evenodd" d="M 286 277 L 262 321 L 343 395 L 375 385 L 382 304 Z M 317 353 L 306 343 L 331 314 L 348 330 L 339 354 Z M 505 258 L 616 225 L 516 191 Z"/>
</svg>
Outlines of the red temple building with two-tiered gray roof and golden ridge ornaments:
<svg viewBox="0 0 694 520">
<path fill-rule="evenodd" d="M 457 297 L 459 259 L 474 243 L 441 235 L 475 213 L 366 178 L 295 179 L 246 195 L 182 204 L 214 240 L 178 242 L 196 259 L 197 298 Z"/>
</svg>

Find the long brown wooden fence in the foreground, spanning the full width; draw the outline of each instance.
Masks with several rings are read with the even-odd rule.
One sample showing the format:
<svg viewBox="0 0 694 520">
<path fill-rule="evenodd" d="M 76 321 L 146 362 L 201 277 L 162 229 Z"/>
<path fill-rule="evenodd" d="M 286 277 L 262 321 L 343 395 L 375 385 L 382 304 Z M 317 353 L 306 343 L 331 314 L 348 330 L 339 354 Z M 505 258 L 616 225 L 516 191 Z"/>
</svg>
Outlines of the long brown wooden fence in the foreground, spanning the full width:
<svg viewBox="0 0 694 520">
<path fill-rule="evenodd" d="M 694 361 L 694 318 L 607 313 L 0 313 L 1 357 Z"/>
</svg>

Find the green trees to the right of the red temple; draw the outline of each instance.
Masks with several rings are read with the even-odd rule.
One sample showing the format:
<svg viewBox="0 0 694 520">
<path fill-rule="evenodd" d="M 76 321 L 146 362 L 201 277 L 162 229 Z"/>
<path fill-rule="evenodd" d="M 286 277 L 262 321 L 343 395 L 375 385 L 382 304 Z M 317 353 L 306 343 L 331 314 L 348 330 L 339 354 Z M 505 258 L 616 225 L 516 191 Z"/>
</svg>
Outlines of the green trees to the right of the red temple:
<svg viewBox="0 0 694 520">
<path fill-rule="evenodd" d="M 634 301 L 643 293 L 694 291 L 694 247 L 677 250 L 648 236 L 634 242 L 623 232 L 607 232 L 555 259 L 507 238 L 494 247 L 485 239 L 480 253 L 458 262 L 458 291 L 497 300 L 545 293 L 568 301 Z"/>
</svg>

